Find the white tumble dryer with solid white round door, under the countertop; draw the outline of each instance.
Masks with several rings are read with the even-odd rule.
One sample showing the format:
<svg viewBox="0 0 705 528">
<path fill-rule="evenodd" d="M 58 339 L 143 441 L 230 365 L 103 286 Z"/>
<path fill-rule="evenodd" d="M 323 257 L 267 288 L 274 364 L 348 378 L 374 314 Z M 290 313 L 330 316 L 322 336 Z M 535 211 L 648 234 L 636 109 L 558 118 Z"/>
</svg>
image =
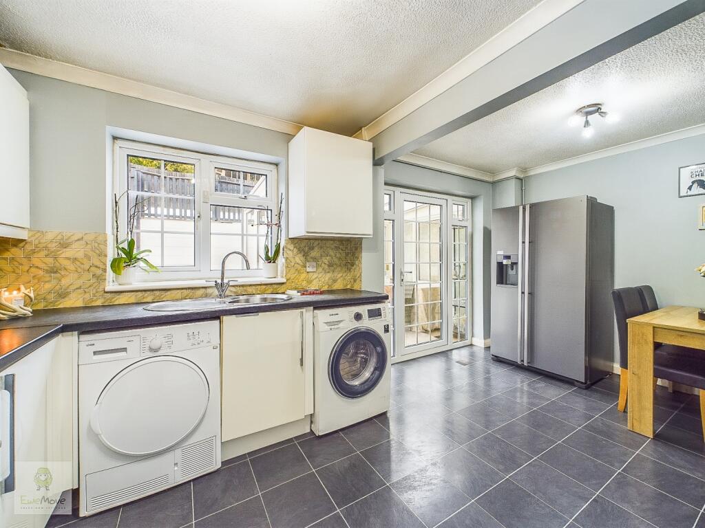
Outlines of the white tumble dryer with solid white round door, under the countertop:
<svg viewBox="0 0 705 528">
<path fill-rule="evenodd" d="M 80 515 L 221 465 L 218 321 L 78 338 Z"/>
</svg>

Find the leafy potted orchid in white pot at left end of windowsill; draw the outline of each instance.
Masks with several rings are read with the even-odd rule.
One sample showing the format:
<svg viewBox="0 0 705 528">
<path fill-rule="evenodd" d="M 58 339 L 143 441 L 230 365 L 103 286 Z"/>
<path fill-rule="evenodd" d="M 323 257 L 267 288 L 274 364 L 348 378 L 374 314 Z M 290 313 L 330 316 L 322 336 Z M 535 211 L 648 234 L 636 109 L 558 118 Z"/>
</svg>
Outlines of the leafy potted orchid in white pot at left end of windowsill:
<svg viewBox="0 0 705 528">
<path fill-rule="evenodd" d="M 135 282 L 135 274 L 138 269 L 145 270 L 147 272 L 159 271 L 159 268 L 149 262 L 146 256 L 152 253 L 151 249 L 141 249 L 140 251 L 135 251 L 137 248 L 137 241 L 135 241 L 135 221 L 137 220 L 138 213 L 141 212 L 140 206 L 145 203 L 147 199 L 142 201 L 135 200 L 132 207 L 128 207 L 128 225 L 127 225 L 127 237 L 123 240 L 120 239 L 120 199 L 123 196 L 128 196 L 128 191 L 123 192 L 120 196 L 114 195 L 114 222 L 115 222 L 115 257 L 110 261 L 110 269 L 115 274 L 115 280 L 118 284 L 126 285 Z M 129 201 L 128 201 L 129 203 Z"/>
</svg>

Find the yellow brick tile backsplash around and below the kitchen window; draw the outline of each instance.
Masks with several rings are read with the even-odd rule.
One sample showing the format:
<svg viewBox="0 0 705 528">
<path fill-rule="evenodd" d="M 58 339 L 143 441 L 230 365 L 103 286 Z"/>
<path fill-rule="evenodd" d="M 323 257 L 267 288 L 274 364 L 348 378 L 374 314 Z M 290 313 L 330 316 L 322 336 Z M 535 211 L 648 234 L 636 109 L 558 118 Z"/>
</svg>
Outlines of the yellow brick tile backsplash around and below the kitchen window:
<svg viewBox="0 0 705 528">
<path fill-rule="evenodd" d="M 34 287 L 33 308 L 170 301 L 215 295 L 214 288 L 106 292 L 109 237 L 104 233 L 30 231 L 27 240 L 0 238 L 0 288 Z M 230 294 L 362 286 L 361 239 L 288 239 L 286 284 L 231 286 Z M 317 263 L 307 272 L 306 263 Z"/>
</svg>

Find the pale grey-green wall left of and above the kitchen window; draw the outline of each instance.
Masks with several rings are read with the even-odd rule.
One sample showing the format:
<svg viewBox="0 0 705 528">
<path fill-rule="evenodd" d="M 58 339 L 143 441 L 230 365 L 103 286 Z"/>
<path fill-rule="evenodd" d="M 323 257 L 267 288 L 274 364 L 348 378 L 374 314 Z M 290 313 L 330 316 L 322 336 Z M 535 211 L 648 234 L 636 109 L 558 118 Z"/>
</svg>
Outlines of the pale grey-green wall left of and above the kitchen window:
<svg viewBox="0 0 705 528">
<path fill-rule="evenodd" d="M 275 156 L 288 134 L 9 70 L 30 99 L 32 229 L 105 232 L 106 127 Z M 280 180 L 285 176 L 280 168 Z"/>
</svg>

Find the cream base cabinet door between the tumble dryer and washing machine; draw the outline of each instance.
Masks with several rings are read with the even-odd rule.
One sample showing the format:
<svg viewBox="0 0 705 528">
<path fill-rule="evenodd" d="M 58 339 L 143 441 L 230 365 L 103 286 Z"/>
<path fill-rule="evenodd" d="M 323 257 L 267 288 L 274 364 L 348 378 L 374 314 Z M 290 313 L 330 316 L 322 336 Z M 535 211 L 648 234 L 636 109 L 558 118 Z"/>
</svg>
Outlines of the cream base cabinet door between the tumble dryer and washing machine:
<svg viewBox="0 0 705 528">
<path fill-rule="evenodd" d="M 312 325 L 310 308 L 222 318 L 223 442 L 313 412 Z"/>
</svg>

